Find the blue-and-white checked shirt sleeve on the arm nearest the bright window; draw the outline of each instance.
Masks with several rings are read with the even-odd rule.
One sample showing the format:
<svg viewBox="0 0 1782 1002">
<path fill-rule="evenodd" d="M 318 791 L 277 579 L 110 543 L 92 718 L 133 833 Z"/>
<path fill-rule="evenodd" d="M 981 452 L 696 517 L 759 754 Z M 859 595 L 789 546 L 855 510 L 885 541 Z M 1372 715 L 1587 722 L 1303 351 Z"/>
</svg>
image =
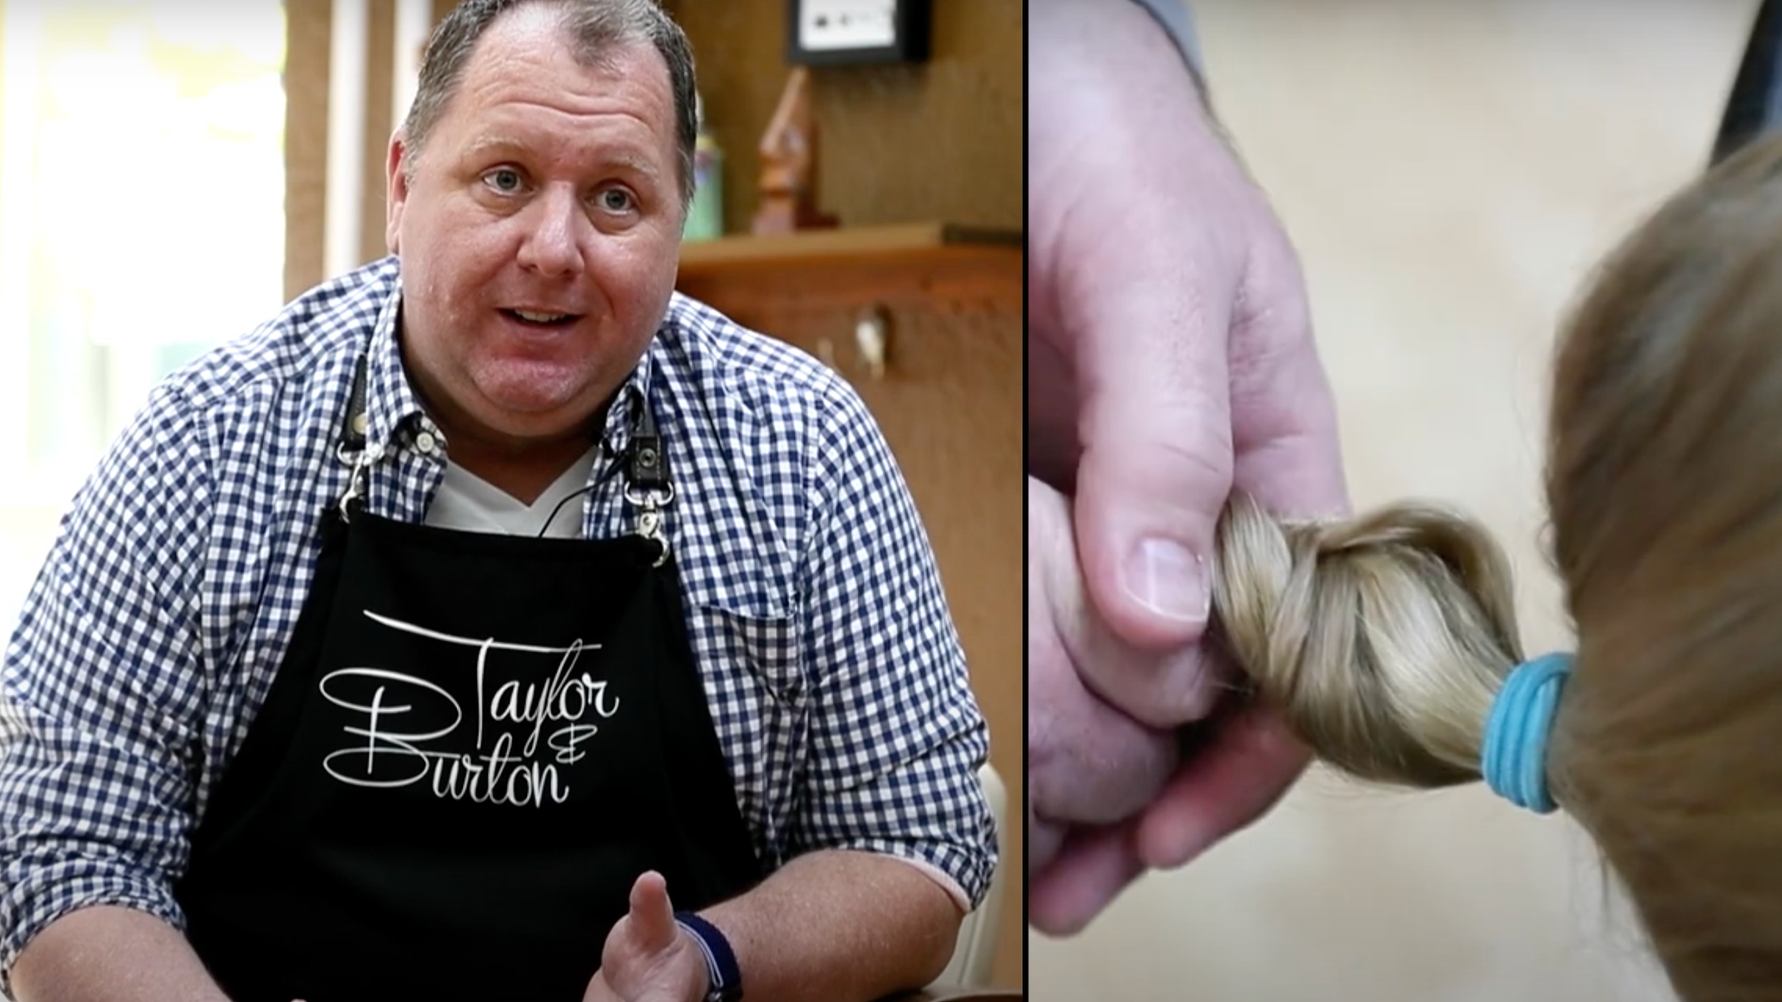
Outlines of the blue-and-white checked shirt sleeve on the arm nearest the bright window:
<svg viewBox="0 0 1782 1002">
<path fill-rule="evenodd" d="M 208 489 L 157 394 L 77 494 L 0 663 L 0 984 L 69 911 L 184 920 Z"/>
</svg>

